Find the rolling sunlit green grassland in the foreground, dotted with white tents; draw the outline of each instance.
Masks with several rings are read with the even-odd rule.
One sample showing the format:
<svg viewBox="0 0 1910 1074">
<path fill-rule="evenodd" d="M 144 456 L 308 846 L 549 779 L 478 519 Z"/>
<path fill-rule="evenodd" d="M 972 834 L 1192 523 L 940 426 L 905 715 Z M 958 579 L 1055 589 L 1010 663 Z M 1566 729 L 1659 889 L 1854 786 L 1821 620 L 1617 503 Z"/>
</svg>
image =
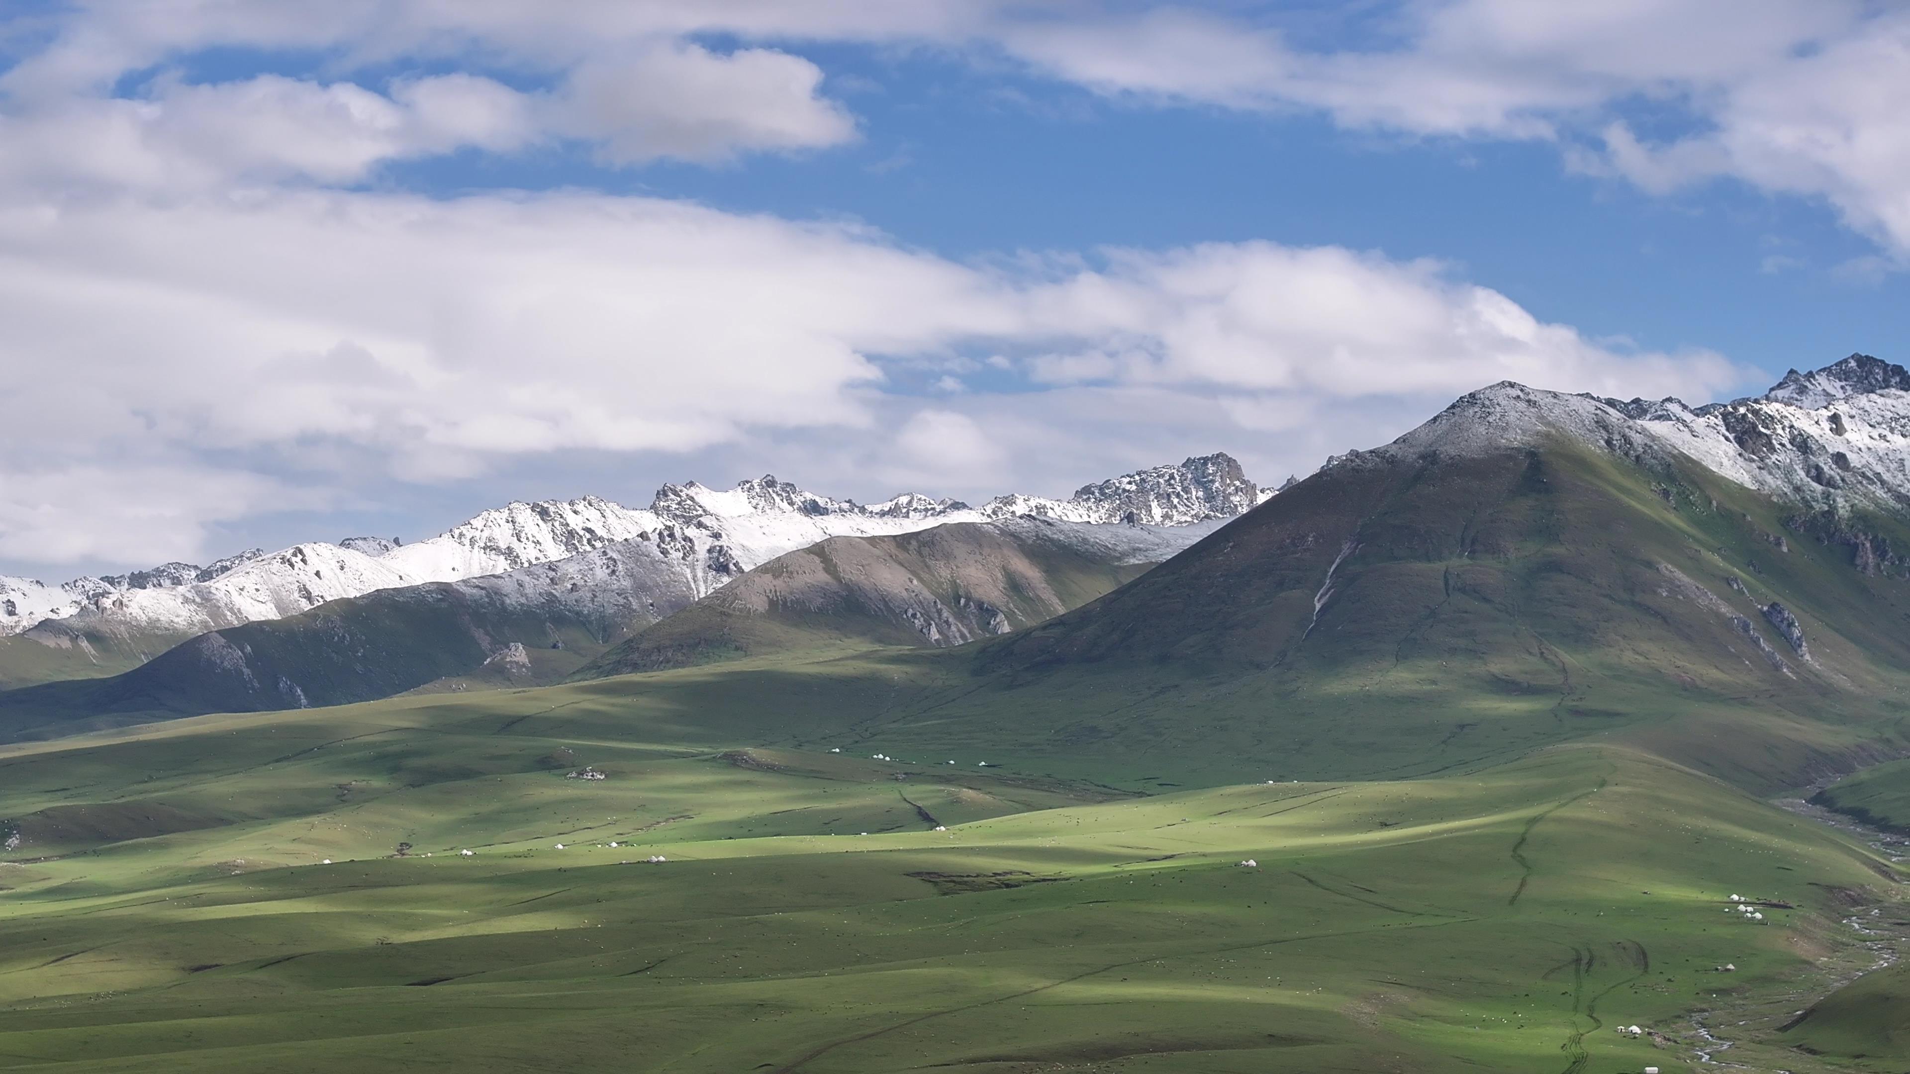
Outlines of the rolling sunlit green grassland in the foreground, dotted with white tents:
<svg viewBox="0 0 1910 1074">
<path fill-rule="evenodd" d="M 1776 1026 L 1891 868 L 1624 745 L 1136 797 L 579 709 L 6 747 L 0 1068 L 1669 1072 L 1694 1011 L 1864 1063 Z"/>
</svg>

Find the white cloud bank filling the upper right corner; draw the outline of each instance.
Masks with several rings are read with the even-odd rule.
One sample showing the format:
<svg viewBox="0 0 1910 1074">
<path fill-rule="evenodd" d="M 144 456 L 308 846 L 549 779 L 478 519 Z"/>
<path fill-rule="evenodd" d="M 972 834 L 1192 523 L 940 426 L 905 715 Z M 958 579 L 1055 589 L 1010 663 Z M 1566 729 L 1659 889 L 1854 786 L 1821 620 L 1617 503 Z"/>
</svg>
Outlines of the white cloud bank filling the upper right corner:
<svg viewBox="0 0 1910 1074">
<path fill-rule="evenodd" d="M 1320 111 L 1408 136 L 1553 140 L 1650 193 L 1734 178 L 1816 197 L 1910 256 L 1910 13 L 1857 0 L 1402 2 L 1375 48 L 1297 48 L 1184 10 L 1022 21 L 1003 48 L 1098 94 Z M 1641 140 L 1650 101 L 1692 134 Z M 1585 147 L 1593 153 L 1587 153 Z"/>
</svg>

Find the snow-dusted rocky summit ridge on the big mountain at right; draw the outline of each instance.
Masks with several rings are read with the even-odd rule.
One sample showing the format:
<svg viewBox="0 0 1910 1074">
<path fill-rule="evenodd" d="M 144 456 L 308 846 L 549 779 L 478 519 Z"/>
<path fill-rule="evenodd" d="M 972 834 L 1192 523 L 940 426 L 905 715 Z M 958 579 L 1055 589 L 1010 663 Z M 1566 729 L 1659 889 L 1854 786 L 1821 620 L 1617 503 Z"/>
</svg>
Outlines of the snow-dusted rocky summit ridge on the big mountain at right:
<svg viewBox="0 0 1910 1074">
<path fill-rule="evenodd" d="M 1373 453 L 1478 455 L 1568 434 L 1627 457 L 1677 451 L 1740 485 L 1809 510 L 1910 508 L 1910 371 L 1853 354 L 1786 373 L 1769 392 L 1688 407 L 1681 399 L 1601 399 L 1511 380 L 1461 396 Z"/>
</svg>

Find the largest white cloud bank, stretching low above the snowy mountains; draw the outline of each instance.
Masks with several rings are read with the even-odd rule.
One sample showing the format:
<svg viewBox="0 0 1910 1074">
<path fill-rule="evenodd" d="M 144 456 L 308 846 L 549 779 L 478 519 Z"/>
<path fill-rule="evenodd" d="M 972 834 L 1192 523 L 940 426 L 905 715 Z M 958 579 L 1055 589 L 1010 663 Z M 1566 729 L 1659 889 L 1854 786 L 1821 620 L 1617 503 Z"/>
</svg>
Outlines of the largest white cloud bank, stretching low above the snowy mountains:
<svg viewBox="0 0 1910 1074">
<path fill-rule="evenodd" d="M 1272 399 L 1419 399 L 1503 376 L 1708 397 L 1744 375 L 1702 352 L 1601 346 L 1432 262 L 1243 243 L 982 268 L 856 226 L 586 193 L 15 199 L 0 210 L 0 482 L 73 522 L 97 489 L 19 482 L 178 459 L 141 495 L 170 497 L 181 533 L 256 508 L 241 493 L 273 472 L 346 497 L 563 451 L 879 443 L 900 420 L 886 365 L 987 355 L 999 371 L 993 357 L 1024 355 L 1020 420 L 1050 438 L 1072 436 L 1072 401 L 1138 392 L 1148 420 L 1175 413 L 1165 399 L 1205 415 L 1201 440 L 1213 422 L 1266 428 L 1243 407 L 1268 415 Z M 1096 354 L 1115 359 L 1039 357 Z M 968 392 L 915 413 L 882 464 L 1018 472 L 999 447 L 1012 438 L 987 424 L 1003 405 Z M 197 474 L 233 459 L 260 483 L 201 495 Z"/>
</svg>

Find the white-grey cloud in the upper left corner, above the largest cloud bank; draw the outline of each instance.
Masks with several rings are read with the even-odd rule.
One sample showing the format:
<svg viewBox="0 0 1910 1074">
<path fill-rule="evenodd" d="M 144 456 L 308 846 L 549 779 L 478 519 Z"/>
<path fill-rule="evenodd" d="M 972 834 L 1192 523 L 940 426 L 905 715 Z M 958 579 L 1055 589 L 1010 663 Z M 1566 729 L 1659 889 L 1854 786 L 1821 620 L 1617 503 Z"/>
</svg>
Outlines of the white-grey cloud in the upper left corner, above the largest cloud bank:
<svg viewBox="0 0 1910 1074">
<path fill-rule="evenodd" d="M 819 67 L 770 48 L 711 52 L 655 10 L 363 4 L 321 17 L 283 6 L 147 2 L 80 8 L 63 32 L 0 75 L 0 178 L 46 187 L 212 189 L 309 180 L 355 183 L 378 164 L 554 140 L 594 143 L 602 161 L 724 161 L 737 153 L 838 145 L 854 118 L 821 96 Z M 508 15 L 508 17 L 506 17 Z M 678 11 L 682 15 L 682 11 Z M 604 31 L 604 32 L 598 32 Z M 342 50 L 334 80 L 262 75 L 185 82 L 176 65 L 204 48 Z M 472 52 L 544 90 L 470 73 L 350 78 L 357 65 Z M 149 75 L 157 71 L 157 75 Z M 136 76 L 130 94 L 115 94 Z"/>
</svg>

